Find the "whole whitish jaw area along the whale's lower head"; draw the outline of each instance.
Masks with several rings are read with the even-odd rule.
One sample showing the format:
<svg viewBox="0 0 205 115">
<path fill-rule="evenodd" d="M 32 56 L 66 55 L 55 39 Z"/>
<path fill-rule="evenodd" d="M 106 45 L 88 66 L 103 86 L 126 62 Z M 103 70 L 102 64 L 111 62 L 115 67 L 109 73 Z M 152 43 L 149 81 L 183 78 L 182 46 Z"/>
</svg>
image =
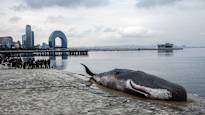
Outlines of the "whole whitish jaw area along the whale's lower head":
<svg viewBox="0 0 205 115">
<path fill-rule="evenodd" d="M 160 100 L 170 100 L 172 94 L 167 89 L 155 89 L 146 86 L 135 84 L 132 80 L 127 80 L 126 86 L 128 89 L 146 97 Z"/>
</svg>

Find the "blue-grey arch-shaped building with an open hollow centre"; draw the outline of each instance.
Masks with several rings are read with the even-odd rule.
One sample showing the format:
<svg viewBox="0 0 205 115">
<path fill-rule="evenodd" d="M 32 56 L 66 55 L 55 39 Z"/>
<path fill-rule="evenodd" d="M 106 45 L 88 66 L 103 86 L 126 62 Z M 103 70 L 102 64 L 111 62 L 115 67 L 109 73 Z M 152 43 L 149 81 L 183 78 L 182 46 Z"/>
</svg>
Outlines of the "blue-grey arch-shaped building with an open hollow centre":
<svg viewBox="0 0 205 115">
<path fill-rule="evenodd" d="M 51 33 L 49 37 L 49 47 L 52 49 L 55 49 L 56 47 L 55 39 L 57 37 L 61 39 L 61 48 L 66 49 L 67 48 L 67 38 L 62 31 L 54 31 Z"/>
</svg>

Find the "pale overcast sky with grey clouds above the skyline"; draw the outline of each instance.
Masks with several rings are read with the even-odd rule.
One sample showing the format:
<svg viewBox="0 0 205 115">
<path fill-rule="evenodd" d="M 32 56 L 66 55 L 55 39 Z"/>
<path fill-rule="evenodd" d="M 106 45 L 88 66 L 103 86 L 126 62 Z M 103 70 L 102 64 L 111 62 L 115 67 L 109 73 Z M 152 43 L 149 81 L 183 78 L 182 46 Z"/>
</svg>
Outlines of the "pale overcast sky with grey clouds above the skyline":
<svg viewBox="0 0 205 115">
<path fill-rule="evenodd" d="M 1 0 L 0 36 L 35 44 L 63 31 L 69 46 L 205 46 L 205 0 Z"/>
</svg>

